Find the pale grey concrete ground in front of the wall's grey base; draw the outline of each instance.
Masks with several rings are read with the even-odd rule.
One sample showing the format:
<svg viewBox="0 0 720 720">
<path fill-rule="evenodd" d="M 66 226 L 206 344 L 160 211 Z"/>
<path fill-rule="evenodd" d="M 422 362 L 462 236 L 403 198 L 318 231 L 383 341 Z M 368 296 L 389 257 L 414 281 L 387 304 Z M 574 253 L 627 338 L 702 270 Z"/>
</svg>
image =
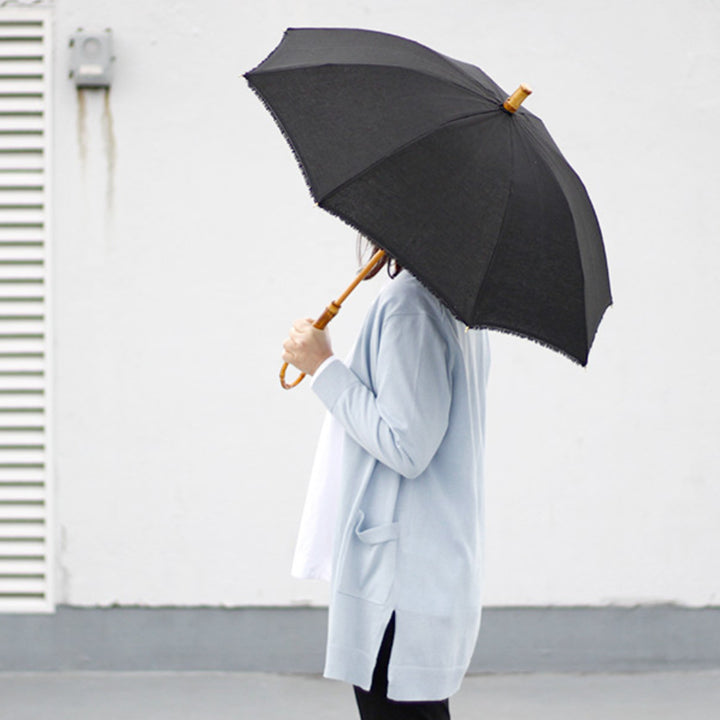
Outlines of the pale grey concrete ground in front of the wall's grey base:
<svg viewBox="0 0 720 720">
<path fill-rule="evenodd" d="M 454 720 L 716 720 L 720 670 L 471 675 Z M 0 720 L 342 720 L 351 688 L 313 675 L 0 673 Z"/>
</svg>

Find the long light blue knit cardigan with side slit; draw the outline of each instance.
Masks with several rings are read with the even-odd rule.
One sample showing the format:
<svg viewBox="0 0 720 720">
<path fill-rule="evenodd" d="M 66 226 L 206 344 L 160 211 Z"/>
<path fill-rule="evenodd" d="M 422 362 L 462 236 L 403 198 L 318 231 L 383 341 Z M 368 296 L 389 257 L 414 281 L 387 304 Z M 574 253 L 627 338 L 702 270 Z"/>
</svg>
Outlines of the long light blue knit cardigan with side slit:
<svg viewBox="0 0 720 720">
<path fill-rule="evenodd" d="M 388 697 L 455 693 L 481 612 L 487 332 L 407 271 L 378 295 L 349 366 L 313 390 L 345 429 L 325 676 L 368 689 L 396 614 Z"/>
</svg>

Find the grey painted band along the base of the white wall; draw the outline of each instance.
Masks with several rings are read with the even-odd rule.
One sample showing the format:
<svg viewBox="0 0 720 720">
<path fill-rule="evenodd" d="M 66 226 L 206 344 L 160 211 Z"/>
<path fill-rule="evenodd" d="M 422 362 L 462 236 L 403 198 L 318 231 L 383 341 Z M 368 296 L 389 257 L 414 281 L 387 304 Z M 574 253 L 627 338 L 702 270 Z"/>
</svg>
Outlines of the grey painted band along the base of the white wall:
<svg viewBox="0 0 720 720">
<path fill-rule="evenodd" d="M 320 673 L 324 608 L 74 607 L 0 615 L 0 671 Z M 720 667 L 720 608 L 483 610 L 474 673 Z"/>
</svg>

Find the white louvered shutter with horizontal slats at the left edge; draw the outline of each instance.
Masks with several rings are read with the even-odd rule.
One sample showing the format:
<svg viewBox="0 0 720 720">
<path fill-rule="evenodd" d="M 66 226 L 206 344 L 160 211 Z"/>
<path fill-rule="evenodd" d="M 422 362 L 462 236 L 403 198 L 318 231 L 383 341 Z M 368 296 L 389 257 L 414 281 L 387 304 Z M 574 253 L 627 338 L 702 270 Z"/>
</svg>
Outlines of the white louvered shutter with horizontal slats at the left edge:
<svg viewBox="0 0 720 720">
<path fill-rule="evenodd" d="M 53 610 L 50 40 L 48 8 L 0 8 L 0 612 Z"/>
</svg>

